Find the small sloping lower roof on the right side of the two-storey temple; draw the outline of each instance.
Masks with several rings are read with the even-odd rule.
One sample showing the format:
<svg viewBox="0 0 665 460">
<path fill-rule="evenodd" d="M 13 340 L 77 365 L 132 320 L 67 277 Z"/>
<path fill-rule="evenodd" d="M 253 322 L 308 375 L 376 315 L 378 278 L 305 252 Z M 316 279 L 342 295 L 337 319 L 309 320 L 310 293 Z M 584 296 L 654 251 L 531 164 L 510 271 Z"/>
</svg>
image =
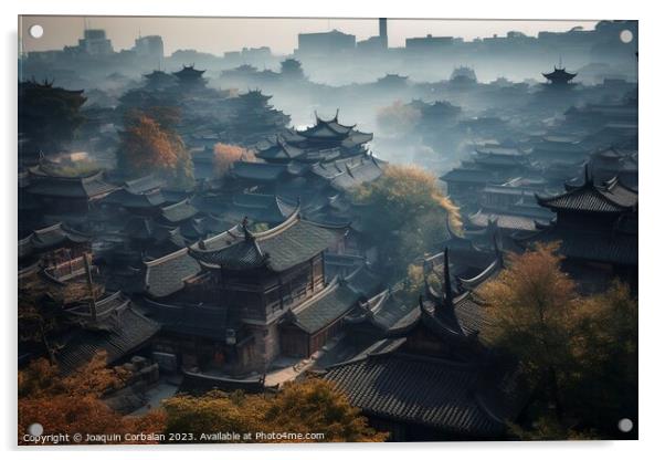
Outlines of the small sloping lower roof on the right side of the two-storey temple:
<svg viewBox="0 0 665 460">
<path fill-rule="evenodd" d="M 292 322 L 303 331 L 314 334 L 348 313 L 359 294 L 346 283 L 334 280 L 314 297 L 291 311 Z"/>
</svg>

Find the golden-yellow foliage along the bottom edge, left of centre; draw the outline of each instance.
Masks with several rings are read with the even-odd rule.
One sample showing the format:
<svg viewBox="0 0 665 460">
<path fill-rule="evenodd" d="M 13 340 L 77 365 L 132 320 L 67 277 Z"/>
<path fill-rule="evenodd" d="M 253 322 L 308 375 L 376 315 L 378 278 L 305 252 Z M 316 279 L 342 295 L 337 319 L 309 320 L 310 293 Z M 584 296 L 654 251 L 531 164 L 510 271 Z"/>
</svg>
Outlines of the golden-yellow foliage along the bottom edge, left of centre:
<svg viewBox="0 0 665 460">
<path fill-rule="evenodd" d="M 386 435 L 377 433 L 367 426 L 367 420 L 341 393 L 330 383 L 318 378 L 287 383 L 276 395 L 244 395 L 240 391 L 210 391 L 200 397 L 180 395 L 166 400 L 163 408 L 167 432 L 320 432 L 325 435 L 324 439 L 318 440 L 321 442 L 372 442 L 386 439 Z M 252 438 L 241 441 L 262 440 Z M 271 442 L 279 441 L 285 440 Z"/>
</svg>

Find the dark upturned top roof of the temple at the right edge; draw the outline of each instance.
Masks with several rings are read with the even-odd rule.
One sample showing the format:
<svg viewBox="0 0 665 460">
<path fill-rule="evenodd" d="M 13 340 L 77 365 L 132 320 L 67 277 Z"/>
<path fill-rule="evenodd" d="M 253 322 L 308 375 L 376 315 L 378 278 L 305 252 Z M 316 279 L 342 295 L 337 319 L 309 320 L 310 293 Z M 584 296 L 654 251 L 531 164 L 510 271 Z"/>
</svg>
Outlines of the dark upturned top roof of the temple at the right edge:
<svg viewBox="0 0 665 460">
<path fill-rule="evenodd" d="M 555 212 L 625 212 L 636 210 L 637 192 L 623 186 L 619 180 L 606 185 L 595 185 L 587 175 L 584 184 L 555 197 L 536 196 L 538 203 Z"/>
</svg>

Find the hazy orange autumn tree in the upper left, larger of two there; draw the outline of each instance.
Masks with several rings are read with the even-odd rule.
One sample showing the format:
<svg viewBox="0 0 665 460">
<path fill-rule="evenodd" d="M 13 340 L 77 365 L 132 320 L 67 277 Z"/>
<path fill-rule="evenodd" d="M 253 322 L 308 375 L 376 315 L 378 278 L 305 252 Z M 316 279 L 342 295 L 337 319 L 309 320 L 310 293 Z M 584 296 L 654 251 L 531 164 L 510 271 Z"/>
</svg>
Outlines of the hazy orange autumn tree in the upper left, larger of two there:
<svg viewBox="0 0 665 460">
<path fill-rule="evenodd" d="M 178 111 L 169 107 L 129 111 L 118 149 L 118 168 L 136 177 L 157 174 L 176 188 L 190 187 L 193 184 L 193 164 L 177 134 L 178 119 Z"/>
</svg>

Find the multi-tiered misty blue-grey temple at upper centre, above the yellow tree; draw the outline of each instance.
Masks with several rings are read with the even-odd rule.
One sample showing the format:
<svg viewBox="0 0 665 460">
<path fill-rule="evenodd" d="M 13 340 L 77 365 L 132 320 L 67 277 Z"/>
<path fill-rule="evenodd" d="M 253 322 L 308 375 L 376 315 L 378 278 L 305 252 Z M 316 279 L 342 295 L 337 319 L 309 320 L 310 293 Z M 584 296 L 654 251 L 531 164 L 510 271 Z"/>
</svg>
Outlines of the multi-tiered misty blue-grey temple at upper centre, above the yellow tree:
<svg viewBox="0 0 665 460">
<path fill-rule="evenodd" d="M 285 130 L 261 144 L 258 161 L 240 160 L 229 171 L 231 216 L 272 223 L 299 203 L 309 220 L 332 226 L 352 222 L 347 192 L 382 175 L 384 161 L 369 154 L 371 134 L 341 125 L 337 115 L 317 116 L 304 130 Z M 252 208 L 253 209 L 250 209 Z"/>
</svg>

